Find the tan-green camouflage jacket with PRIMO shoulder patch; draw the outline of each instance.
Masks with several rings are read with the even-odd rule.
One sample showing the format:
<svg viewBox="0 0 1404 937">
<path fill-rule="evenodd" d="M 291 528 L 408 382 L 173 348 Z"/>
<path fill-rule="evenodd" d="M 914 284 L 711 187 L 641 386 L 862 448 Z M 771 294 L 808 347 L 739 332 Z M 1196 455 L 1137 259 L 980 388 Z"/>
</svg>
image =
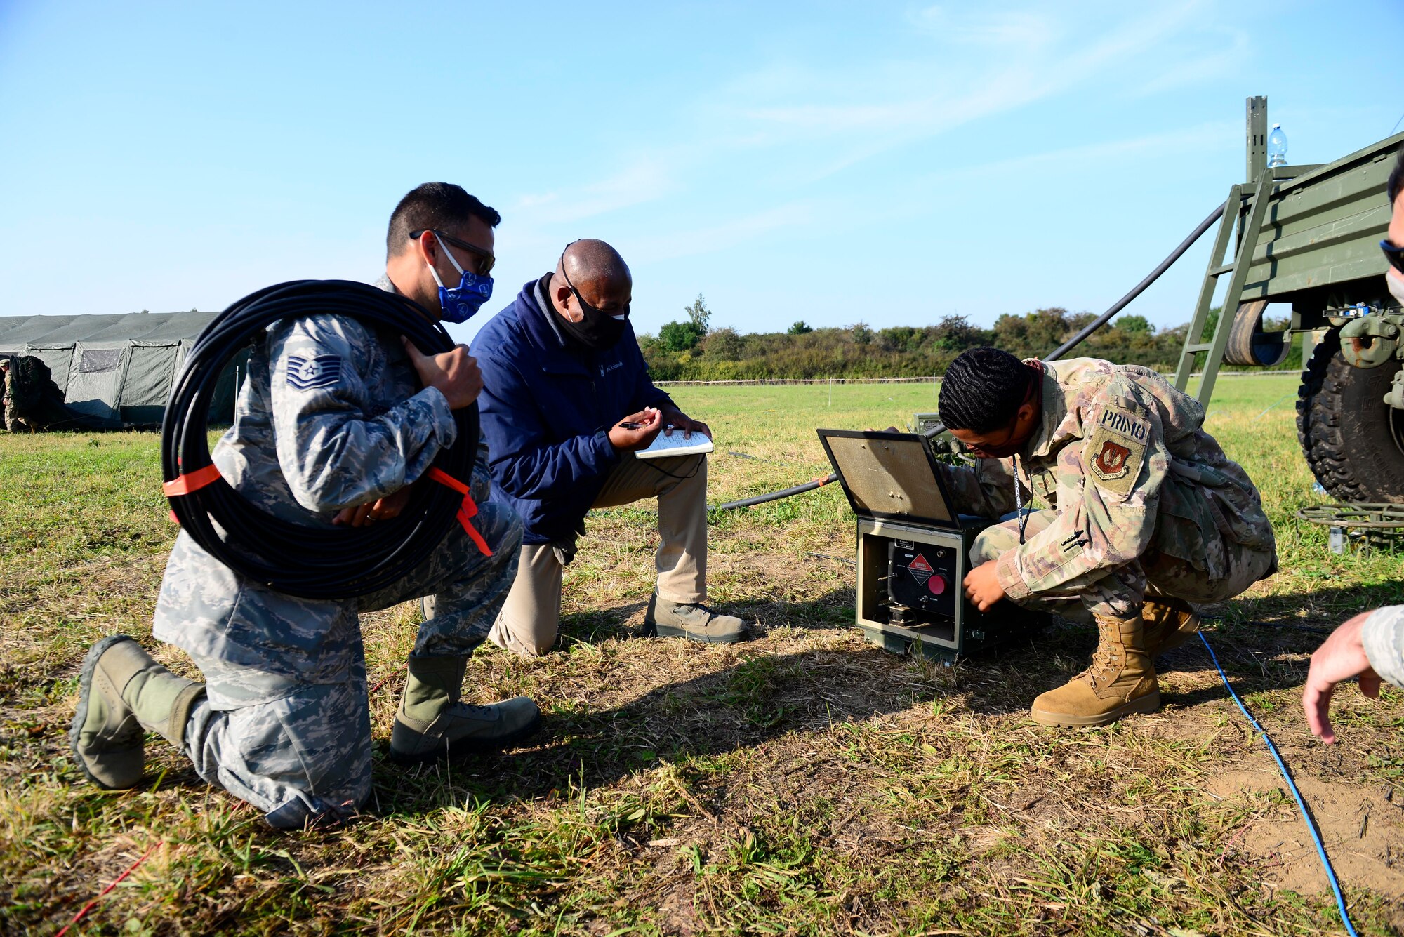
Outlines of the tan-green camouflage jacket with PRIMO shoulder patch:
<svg viewBox="0 0 1404 937">
<path fill-rule="evenodd" d="M 1095 358 L 1045 363 L 1043 422 L 1011 459 L 945 467 L 962 511 L 995 518 L 1021 491 L 1057 509 L 1038 536 L 998 560 L 1011 599 L 1052 592 L 1147 550 L 1227 575 L 1224 541 L 1272 550 L 1258 490 L 1202 429 L 1198 400 L 1154 370 Z"/>
</svg>

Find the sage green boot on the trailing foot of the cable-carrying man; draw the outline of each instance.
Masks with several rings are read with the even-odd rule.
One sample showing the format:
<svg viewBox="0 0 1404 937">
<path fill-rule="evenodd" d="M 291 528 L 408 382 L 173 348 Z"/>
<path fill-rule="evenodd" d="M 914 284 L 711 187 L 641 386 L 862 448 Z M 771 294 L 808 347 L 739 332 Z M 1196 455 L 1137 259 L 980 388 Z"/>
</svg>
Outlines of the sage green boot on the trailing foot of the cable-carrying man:
<svg viewBox="0 0 1404 937">
<path fill-rule="evenodd" d="M 83 659 L 69 741 L 98 787 L 125 790 L 142 780 L 143 729 L 184 749 L 190 711 L 205 685 L 176 676 L 125 634 L 102 638 Z"/>
</svg>

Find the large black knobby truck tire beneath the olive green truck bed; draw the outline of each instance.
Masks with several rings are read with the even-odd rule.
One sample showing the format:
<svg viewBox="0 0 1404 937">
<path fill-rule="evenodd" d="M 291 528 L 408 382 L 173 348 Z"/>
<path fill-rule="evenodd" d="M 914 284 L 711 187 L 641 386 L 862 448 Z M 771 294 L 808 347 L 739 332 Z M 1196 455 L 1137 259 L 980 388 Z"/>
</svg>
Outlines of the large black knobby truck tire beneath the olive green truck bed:
<svg viewBox="0 0 1404 937">
<path fill-rule="evenodd" d="M 1398 369 L 1352 368 L 1334 328 L 1311 352 L 1297 389 L 1297 442 L 1337 501 L 1404 504 L 1404 411 L 1384 404 Z"/>
</svg>

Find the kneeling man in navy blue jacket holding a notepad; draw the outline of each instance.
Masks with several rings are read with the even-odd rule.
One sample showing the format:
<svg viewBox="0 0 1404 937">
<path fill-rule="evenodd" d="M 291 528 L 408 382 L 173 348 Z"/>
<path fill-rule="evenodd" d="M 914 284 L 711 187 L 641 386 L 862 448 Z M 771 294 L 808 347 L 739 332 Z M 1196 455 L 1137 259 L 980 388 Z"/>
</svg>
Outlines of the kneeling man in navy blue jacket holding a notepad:
<svg viewBox="0 0 1404 937">
<path fill-rule="evenodd" d="M 712 435 L 653 386 L 629 324 L 633 278 L 597 240 L 569 244 L 473 341 L 493 498 L 526 533 L 489 640 L 545 654 L 560 623 L 562 569 L 590 508 L 658 498 L 658 584 L 646 624 L 692 641 L 740 641 L 740 619 L 706 599 L 706 456 L 636 459 L 658 432 Z"/>
</svg>

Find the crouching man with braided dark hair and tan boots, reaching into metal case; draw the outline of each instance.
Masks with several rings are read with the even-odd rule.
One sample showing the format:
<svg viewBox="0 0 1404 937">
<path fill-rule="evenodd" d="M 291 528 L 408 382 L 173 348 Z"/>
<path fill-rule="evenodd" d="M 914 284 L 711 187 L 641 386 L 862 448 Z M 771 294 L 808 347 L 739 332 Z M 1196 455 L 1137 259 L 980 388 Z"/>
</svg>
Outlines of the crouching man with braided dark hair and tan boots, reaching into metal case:
<svg viewBox="0 0 1404 937">
<path fill-rule="evenodd" d="M 1203 431 L 1199 401 L 1148 368 L 973 348 L 946 372 L 939 408 L 977 457 L 943 468 L 960 509 L 1019 512 L 976 539 L 966 595 L 980 610 L 1008 598 L 1099 628 L 1092 666 L 1033 701 L 1039 722 L 1155 711 L 1153 661 L 1199 630 L 1189 603 L 1278 568 L 1248 474 Z M 1047 508 L 1024 512 L 1031 494 Z"/>
</svg>

